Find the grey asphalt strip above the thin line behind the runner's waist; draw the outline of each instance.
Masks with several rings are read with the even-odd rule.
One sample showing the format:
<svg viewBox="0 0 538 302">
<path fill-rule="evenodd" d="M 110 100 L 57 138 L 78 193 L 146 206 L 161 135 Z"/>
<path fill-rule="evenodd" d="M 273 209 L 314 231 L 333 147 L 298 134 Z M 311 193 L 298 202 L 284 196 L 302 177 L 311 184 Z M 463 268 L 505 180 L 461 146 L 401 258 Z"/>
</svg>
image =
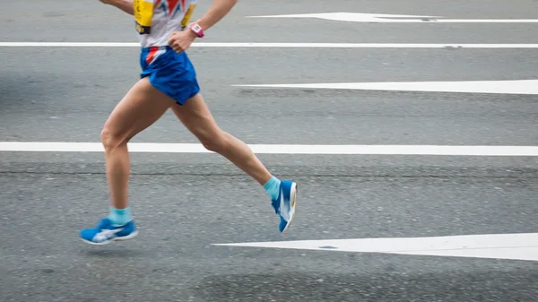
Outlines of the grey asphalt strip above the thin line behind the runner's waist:
<svg viewBox="0 0 538 302">
<path fill-rule="evenodd" d="M 211 1 L 199 1 L 193 18 Z M 12 3 L 0 19 L 0 41 L 136 41 L 133 22 L 113 7 L 89 0 L 30 0 Z M 399 42 L 399 43 L 538 43 L 535 24 L 370 24 L 317 19 L 249 19 L 247 16 L 296 13 L 389 13 L 432 15 L 451 19 L 536 19 L 534 0 L 299 0 L 248 1 L 208 32 L 207 42 Z M 33 25 L 30 25 L 33 24 Z M 36 34 L 30 30 L 46 24 Z M 493 34 L 494 33 L 494 34 Z"/>
</svg>

